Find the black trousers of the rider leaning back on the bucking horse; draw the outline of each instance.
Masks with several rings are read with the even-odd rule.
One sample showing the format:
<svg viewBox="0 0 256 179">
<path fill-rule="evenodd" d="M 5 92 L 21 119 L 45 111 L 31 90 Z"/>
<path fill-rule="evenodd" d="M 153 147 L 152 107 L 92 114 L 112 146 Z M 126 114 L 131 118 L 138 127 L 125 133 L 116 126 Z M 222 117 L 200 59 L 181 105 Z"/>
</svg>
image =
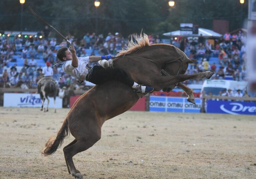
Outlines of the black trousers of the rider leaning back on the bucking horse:
<svg viewBox="0 0 256 179">
<path fill-rule="evenodd" d="M 133 86 L 134 84 L 134 80 L 129 78 L 127 73 L 122 69 L 104 69 L 101 66 L 93 67 L 90 79 L 88 81 L 96 85 L 100 85 L 111 80 L 120 81 L 128 86 Z"/>
</svg>

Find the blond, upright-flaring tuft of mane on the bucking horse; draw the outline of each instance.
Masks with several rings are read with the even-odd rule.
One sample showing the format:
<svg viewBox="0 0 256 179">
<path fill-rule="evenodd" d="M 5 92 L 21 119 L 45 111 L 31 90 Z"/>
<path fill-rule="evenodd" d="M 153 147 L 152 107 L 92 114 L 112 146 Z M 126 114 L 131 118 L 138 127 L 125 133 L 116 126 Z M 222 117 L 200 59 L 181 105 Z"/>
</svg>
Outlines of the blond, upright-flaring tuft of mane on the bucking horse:
<svg viewBox="0 0 256 179">
<path fill-rule="evenodd" d="M 119 51 L 116 57 L 123 56 L 125 54 L 130 54 L 132 52 L 140 50 L 142 47 L 149 46 L 149 37 L 145 33 L 141 33 L 139 37 L 137 36 L 137 34 L 135 34 L 134 39 L 136 42 L 133 41 L 132 36 L 132 39 L 128 41 L 127 47 Z"/>
</svg>

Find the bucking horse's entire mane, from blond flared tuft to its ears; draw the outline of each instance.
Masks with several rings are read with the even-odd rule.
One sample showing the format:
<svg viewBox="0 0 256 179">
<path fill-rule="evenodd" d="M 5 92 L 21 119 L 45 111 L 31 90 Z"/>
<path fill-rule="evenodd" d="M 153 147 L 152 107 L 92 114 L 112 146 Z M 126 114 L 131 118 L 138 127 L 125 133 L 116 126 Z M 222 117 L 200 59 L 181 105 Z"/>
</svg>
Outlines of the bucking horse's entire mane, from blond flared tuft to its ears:
<svg viewBox="0 0 256 179">
<path fill-rule="evenodd" d="M 139 37 L 137 36 L 137 34 L 135 34 L 134 39 L 136 42 L 133 41 L 133 36 L 132 36 L 132 39 L 130 41 L 128 41 L 127 47 L 122 49 L 121 51 L 119 51 L 119 53 L 116 55 L 116 57 L 120 57 L 120 56 L 124 56 L 126 54 L 133 53 L 133 52 L 138 51 L 141 48 L 146 47 L 146 46 L 151 46 L 149 44 L 149 37 L 145 33 L 143 33 L 143 34 L 141 33 Z M 163 45 L 163 44 L 152 44 L 152 46 L 153 45 Z M 179 56 L 183 57 L 183 59 L 188 58 L 187 55 L 178 47 L 175 47 L 174 45 L 169 45 L 169 44 L 164 44 L 164 45 L 172 46 L 174 48 L 174 50 L 176 51 L 176 53 L 178 53 Z"/>
</svg>

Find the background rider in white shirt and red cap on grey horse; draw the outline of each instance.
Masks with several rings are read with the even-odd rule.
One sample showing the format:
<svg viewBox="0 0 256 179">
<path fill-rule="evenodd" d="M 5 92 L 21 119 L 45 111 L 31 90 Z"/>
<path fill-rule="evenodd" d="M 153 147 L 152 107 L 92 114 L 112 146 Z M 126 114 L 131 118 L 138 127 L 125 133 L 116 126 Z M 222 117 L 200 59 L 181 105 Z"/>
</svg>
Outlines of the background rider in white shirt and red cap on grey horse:
<svg viewBox="0 0 256 179">
<path fill-rule="evenodd" d="M 43 69 L 42 69 L 43 77 L 40 80 L 38 80 L 38 82 L 37 82 L 37 93 L 40 93 L 41 86 L 44 84 L 45 81 L 51 80 L 51 81 L 55 82 L 52 79 L 53 70 L 52 70 L 52 67 L 51 67 L 51 63 L 46 62 L 45 64 L 46 64 L 46 66 L 43 67 Z"/>
</svg>

